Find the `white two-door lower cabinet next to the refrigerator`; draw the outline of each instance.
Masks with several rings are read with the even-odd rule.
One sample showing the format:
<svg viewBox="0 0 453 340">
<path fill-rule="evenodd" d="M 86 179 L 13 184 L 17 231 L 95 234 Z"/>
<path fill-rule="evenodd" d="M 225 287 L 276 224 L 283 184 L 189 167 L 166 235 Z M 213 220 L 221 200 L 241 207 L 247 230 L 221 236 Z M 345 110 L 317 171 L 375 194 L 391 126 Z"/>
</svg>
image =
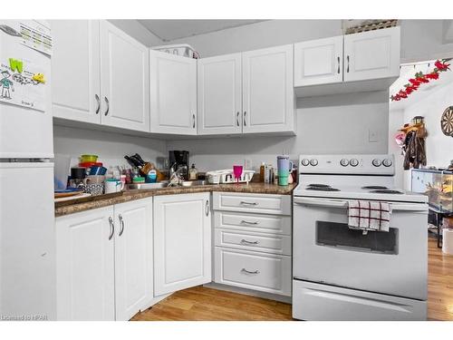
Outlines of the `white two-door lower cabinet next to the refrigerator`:
<svg viewBox="0 0 453 340">
<path fill-rule="evenodd" d="M 129 320 L 152 293 L 152 198 L 55 219 L 57 318 Z"/>
</svg>

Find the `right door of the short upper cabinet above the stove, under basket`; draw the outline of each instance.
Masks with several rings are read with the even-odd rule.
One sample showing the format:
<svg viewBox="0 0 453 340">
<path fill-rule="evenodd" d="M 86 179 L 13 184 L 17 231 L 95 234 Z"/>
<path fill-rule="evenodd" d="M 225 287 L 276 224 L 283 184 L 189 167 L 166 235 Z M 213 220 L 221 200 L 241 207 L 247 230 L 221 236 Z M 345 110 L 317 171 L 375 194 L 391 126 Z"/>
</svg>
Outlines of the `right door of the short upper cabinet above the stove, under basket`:
<svg viewBox="0 0 453 340">
<path fill-rule="evenodd" d="M 400 27 L 344 35 L 344 81 L 400 75 Z"/>
</svg>

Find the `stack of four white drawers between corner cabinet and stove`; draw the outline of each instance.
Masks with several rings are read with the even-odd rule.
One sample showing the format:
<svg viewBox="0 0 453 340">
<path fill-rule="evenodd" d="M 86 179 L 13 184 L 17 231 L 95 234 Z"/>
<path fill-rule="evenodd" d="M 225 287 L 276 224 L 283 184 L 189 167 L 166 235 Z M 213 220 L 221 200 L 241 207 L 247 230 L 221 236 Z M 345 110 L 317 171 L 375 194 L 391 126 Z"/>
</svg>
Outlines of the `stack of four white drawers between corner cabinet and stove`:
<svg viewBox="0 0 453 340">
<path fill-rule="evenodd" d="M 291 195 L 214 192 L 219 284 L 291 296 Z"/>
</svg>

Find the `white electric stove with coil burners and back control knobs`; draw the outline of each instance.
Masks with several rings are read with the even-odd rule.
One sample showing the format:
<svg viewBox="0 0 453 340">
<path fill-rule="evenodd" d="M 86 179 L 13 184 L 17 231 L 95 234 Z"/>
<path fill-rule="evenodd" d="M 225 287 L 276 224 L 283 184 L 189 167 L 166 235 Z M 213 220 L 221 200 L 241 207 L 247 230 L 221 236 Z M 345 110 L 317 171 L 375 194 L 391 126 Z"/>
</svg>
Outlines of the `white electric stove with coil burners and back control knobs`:
<svg viewBox="0 0 453 340">
<path fill-rule="evenodd" d="M 428 198 L 394 188 L 392 155 L 301 155 L 293 317 L 424 320 Z M 348 228 L 352 199 L 390 203 L 390 231 Z"/>
</svg>

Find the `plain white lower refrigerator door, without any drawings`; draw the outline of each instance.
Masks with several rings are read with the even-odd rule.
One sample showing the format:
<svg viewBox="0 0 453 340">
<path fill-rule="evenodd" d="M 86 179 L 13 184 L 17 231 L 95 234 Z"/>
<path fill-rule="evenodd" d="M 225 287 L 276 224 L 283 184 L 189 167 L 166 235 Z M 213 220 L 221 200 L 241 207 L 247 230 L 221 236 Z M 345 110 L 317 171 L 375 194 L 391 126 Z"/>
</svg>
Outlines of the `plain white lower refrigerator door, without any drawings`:
<svg viewBox="0 0 453 340">
<path fill-rule="evenodd" d="M 0 162 L 0 316 L 56 318 L 51 162 Z"/>
</svg>

